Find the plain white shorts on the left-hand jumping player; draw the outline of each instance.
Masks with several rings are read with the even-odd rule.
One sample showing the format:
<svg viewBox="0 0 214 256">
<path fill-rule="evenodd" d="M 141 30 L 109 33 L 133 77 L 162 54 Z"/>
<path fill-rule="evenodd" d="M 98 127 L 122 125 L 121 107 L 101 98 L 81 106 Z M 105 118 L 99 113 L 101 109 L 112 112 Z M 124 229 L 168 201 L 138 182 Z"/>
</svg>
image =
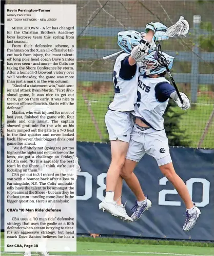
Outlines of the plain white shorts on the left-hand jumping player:
<svg viewBox="0 0 214 256">
<path fill-rule="evenodd" d="M 105 123 L 110 141 L 118 139 L 129 143 L 131 129 L 134 124 L 129 112 L 108 110 L 105 115 Z"/>
</svg>

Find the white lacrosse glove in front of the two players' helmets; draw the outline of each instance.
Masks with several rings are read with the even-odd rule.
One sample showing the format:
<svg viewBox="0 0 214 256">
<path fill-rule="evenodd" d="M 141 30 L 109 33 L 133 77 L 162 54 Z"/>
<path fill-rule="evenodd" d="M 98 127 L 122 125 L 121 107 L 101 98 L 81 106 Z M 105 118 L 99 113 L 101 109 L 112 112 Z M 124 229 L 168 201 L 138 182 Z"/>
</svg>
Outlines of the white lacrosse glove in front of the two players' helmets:
<svg viewBox="0 0 214 256">
<path fill-rule="evenodd" d="M 135 46 L 132 49 L 131 57 L 136 62 L 142 61 L 146 57 L 150 47 L 151 47 L 151 43 L 149 41 L 147 41 L 146 39 L 142 39 L 141 44 Z"/>
</svg>

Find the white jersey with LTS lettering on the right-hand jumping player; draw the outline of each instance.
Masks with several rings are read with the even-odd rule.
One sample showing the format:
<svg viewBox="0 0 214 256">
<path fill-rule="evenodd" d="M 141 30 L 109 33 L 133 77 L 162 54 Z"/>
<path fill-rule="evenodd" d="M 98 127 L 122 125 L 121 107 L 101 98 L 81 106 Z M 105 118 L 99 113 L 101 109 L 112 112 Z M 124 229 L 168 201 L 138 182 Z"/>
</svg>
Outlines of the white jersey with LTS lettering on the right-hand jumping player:
<svg viewBox="0 0 214 256">
<path fill-rule="evenodd" d="M 168 105 L 169 98 L 164 102 L 160 102 L 155 95 L 155 86 L 164 82 L 169 83 L 164 77 L 144 78 L 140 76 L 138 81 L 137 104 L 134 106 L 134 111 L 131 112 L 155 130 L 164 129 L 163 114 Z"/>
</svg>

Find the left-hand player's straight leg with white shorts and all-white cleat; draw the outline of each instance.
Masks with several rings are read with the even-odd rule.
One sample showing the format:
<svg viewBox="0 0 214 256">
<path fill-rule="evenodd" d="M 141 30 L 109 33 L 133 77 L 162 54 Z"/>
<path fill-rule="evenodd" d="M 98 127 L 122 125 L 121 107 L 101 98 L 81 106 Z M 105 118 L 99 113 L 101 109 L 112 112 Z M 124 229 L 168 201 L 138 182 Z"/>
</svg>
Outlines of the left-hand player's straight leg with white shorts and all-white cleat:
<svg viewBox="0 0 214 256">
<path fill-rule="evenodd" d="M 118 209 L 114 192 L 121 168 L 125 162 L 133 121 L 127 113 L 108 111 L 105 116 L 105 123 L 111 143 L 111 164 L 106 177 L 106 196 L 99 204 L 99 209 L 108 211 L 113 216 L 127 218 L 132 221 L 125 211 L 121 212 L 121 209 Z"/>
</svg>

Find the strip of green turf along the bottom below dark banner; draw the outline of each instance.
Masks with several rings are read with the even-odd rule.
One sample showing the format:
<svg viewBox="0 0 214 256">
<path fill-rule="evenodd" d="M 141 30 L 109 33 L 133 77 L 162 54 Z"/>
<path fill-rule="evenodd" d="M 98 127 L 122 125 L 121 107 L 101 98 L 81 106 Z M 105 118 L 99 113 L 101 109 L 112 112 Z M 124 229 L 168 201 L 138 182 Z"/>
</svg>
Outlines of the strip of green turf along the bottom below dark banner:
<svg viewBox="0 0 214 256">
<path fill-rule="evenodd" d="M 93 240 L 93 238 L 91 238 Z M 2 239 L 2 243 L 4 240 Z M 207 245 L 207 244 L 206 244 Z M 23 255 L 21 252 L 3 252 L 1 247 L 1 255 L 15 256 Z M 32 253 L 32 255 L 37 255 Z M 214 255 L 213 247 L 197 247 L 197 246 L 177 246 L 177 245 L 152 245 L 152 244 L 130 244 L 121 243 L 96 243 L 96 242 L 77 242 L 77 252 L 50 252 L 50 255 L 178 255 L 178 256 L 194 256 L 194 255 Z"/>
</svg>

